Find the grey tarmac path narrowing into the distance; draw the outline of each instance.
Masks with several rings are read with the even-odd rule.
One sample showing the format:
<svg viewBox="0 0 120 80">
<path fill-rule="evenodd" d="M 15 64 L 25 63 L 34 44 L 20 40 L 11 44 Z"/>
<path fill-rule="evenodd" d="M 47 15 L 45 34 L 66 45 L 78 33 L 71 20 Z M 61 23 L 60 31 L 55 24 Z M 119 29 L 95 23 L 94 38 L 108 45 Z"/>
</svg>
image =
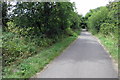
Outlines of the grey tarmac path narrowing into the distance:
<svg viewBox="0 0 120 80">
<path fill-rule="evenodd" d="M 36 78 L 118 78 L 109 54 L 89 32 L 81 35 Z"/>
</svg>

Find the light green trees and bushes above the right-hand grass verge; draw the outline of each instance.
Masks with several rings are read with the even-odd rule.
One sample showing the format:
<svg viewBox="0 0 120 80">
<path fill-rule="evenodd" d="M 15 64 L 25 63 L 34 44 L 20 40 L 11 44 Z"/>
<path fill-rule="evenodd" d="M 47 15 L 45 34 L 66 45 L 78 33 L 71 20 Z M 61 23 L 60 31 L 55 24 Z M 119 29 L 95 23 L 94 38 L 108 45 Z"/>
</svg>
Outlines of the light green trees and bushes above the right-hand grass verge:
<svg viewBox="0 0 120 80">
<path fill-rule="evenodd" d="M 107 6 L 92 9 L 86 14 L 87 26 L 93 34 L 100 32 L 118 38 L 118 4 L 120 2 L 110 2 Z"/>
</svg>

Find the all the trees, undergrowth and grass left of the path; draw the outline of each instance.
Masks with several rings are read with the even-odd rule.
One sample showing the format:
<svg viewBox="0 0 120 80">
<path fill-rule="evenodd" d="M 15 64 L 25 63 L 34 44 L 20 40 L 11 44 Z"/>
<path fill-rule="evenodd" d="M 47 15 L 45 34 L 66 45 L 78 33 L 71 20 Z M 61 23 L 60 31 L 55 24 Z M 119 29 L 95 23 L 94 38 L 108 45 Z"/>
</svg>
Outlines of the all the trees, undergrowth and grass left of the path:
<svg viewBox="0 0 120 80">
<path fill-rule="evenodd" d="M 3 75 L 6 77 L 32 76 L 67 47 L 79 33 L 77 29 L 80 30 L 82 15 L 75 12 L 74 3 L 17 2 L 11 7 L 12 13 L 3 13 L 9 16 L 2 36 Z M 7 4 L 4 10 L 6 9 Z M 63 41 L 64 38 L 66 41 Z M 56 45 L 59 41 L 63 42 Z M 54 44 L 52 49 L 38 54 Z M 39 57 L 22 63 L 33 55 Z M 29 64 L 30 61 L 33 61 L 33 65 Z M 17 69 L 14 69 L 16 66 Z"/>
</svg>

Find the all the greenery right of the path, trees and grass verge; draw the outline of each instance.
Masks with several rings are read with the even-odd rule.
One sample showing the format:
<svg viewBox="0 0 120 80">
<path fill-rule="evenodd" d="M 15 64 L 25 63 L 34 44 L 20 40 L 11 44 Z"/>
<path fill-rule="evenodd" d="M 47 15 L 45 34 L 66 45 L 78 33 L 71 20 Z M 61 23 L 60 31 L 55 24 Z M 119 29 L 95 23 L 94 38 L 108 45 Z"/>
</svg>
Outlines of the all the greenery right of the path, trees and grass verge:
<svg viewBox="0 0 120 80">
<path fill-rule="evenodd" d="M 119 4 L 120 2 L 110 2 L 107 6 L 93 9 L 85 16 L 89 30 L 99 37 L 116 61 L 120 35 Z"/>
</svg>

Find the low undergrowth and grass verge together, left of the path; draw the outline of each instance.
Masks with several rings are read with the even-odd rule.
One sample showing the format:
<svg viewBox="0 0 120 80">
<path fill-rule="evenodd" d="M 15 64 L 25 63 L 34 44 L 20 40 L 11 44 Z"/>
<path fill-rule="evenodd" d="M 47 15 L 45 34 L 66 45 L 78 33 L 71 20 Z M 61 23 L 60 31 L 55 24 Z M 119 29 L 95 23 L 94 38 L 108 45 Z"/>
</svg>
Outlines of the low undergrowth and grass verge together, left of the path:
<svg viewBox="0 0 120 80">
<path fill-rule="evenodd" d="M 80 32 L 71 29 L 69 31 L 66 35 L 61 34 L 54 38 L 3 32 L 3 77 L 29 78 L 41 71 L 74 41 Z"/>
</svg>

